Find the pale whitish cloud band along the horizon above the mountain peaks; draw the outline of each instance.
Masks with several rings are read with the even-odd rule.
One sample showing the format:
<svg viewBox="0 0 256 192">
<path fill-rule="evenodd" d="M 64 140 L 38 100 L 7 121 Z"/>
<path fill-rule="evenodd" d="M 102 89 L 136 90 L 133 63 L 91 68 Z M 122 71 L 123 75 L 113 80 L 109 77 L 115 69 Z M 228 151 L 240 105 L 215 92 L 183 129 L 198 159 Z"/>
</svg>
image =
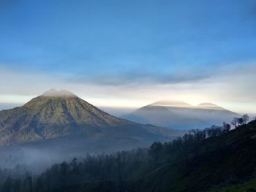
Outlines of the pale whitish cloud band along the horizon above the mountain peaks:
<svg viewBox="0 0 256 192">
<path fill-rule="evenodd" d="M 219 66 L 208 76 L 185 77 L 178 81 L 163 81 L 166 77 L 159 75 L 159 78 L 138 76 L 130 78 L 129 82 L 116 77 L 114 81 L 118 83 L 102 83 L 101 80 L 75 78 L 67 81 L 66 76 L 49 77 L 47 74 L 1 69 L 0 100 L 25 102 L 50 88 L 57 88 L 68 89 L 93 104 L 107 107 L 140 107 L 159 99 L 176 99 L 192 104 L 213 101 L 232 110 L 253 112 L 256 107 L 255 74 L 256 64 L 230 64 Z M 102 77 L 102 81 L 104 79 L 108 77 Z"/>
</svg>

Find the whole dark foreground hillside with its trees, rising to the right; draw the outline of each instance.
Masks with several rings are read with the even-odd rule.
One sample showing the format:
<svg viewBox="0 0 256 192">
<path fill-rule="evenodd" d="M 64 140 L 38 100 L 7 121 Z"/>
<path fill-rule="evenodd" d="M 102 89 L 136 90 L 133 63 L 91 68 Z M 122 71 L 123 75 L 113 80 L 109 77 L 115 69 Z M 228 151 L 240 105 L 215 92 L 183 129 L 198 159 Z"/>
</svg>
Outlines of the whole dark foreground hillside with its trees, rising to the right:
<svg viewBox="0 0 256 192">
<path fill-rule="evenodd" d="M 256 120 L 232 131 L 224 127 L 194 131 L 172 142 L 155 142 L 148 149 L 64 161 L 37 177 L 26 174 L 19 188 L 22 192 L 24 186 L 56 192 L 255 191 L 255 146 Z M 2 189 L 17 187 L 18 180 L 7 178 Z"/>
</svg>

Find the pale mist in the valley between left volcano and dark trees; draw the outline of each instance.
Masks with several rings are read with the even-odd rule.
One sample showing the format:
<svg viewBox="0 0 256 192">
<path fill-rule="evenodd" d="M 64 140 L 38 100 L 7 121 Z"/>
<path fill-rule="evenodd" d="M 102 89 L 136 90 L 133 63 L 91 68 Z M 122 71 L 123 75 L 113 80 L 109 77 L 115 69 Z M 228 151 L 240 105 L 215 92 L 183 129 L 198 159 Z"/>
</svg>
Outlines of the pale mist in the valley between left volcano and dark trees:
<svg viewBox="0 0 256 192">
<path fill-rule="evenodd" d="M 152 142 L 125 140 L 89 141 L 86 139 L 50 139 L 28 142 L 23 145 L 0 147 L 0 168 L 13 169 L 18 164 L 26 165 L 29 172 L 38 174 L 52 164 L 70 161 L 72 158 L 85 158 L 86 155 L 113 153 L 148 147 Z"/>
</svg>

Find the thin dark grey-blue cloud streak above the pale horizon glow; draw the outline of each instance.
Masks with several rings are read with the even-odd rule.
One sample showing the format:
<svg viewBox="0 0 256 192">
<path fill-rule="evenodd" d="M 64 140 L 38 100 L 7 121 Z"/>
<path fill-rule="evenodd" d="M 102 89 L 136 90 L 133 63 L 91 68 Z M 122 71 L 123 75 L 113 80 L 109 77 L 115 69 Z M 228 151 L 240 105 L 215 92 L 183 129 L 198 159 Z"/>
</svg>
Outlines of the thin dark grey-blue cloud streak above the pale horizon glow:
<svg viewBox="0 0 256 192">
<path fill-rule="evenodd" d="M 165 70 L 163 70 L 165 71 Z M 200 72 L 198 72 L 200 71 Z M 67 82 L 93 83 L 98 85 L 154 85 L 154 84 L 173 84 L 181 82 L 196 82 L 208 79 L 209 71 L 197 70 L 195 72 L 176 71 L 176 72 L 146 72 L 137 69 L 136 72 L 120 72 L 118 74 L 94 74 L 93 77 L 87 74 L 78 74 L 67 78 Z"/>
</svg>

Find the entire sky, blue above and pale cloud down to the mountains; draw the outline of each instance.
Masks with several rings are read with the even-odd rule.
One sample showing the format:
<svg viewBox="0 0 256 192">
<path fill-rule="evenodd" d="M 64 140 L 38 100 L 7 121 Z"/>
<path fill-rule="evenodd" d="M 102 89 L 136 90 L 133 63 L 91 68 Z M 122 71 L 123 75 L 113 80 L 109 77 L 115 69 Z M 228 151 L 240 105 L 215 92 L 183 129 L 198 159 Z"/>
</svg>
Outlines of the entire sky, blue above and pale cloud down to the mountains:
<svg viewBox="0 0 256 192">
<path fill-rule="evenodd" d="M 100 107 L 256 113 L 255 74 L 255 0 L 0 0 L 2 104 L 56 88 Z"/>
</svg>

